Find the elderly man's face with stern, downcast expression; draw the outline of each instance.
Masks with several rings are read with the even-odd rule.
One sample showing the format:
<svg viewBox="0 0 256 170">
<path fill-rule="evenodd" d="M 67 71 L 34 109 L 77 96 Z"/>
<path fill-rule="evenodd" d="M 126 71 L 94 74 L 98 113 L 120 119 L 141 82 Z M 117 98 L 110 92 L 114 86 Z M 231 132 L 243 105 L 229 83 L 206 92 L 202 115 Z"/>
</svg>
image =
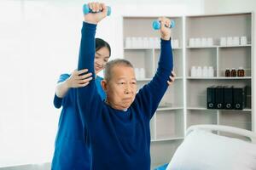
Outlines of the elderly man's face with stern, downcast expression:
<svg viewBox="0 0 256 170">
<path fill-rule="evenodd" d="M 137 91 L 134 70 L 128 66 L 115 65 L 111 70 L 111 75 L 106 85 L 108 103 L 117 110 L 128 109 Z"/>
</svg>

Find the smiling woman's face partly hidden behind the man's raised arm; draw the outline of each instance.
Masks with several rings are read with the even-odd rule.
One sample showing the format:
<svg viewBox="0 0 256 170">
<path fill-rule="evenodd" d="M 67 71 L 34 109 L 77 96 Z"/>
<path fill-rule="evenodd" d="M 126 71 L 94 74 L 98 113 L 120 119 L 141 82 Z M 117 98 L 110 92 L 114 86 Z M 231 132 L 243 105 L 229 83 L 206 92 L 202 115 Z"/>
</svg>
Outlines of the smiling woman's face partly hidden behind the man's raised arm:
<svg viewBox="0 0 256 170">
<path fill-rule="evenodd" d="M 109 57 L 109 50 L 106 47 L 100 48 L 96 51 L 94 60 L 94 69 L 96 74 L 104 69 L 105 65 L 108 63 Z"/>
</svg>

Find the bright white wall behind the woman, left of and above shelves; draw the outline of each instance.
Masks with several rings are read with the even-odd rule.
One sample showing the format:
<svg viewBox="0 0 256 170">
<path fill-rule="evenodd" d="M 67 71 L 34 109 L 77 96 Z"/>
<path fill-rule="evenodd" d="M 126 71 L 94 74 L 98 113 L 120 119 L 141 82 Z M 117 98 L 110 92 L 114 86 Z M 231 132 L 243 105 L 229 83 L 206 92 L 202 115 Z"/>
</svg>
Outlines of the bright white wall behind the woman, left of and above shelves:
<svg viewBox="0 0 256 170">
<path fill-rule="evenodd" d="M 122 16 L 202 14 L 202 0 L 109 1 L 97 37 L 122 57 Z M 51 161 L 55 82 L 76 68 L 84 0 L 0 1 L 0 167 Z M 125 4 L 125 6 L 124 6 Z"/>
</svg>

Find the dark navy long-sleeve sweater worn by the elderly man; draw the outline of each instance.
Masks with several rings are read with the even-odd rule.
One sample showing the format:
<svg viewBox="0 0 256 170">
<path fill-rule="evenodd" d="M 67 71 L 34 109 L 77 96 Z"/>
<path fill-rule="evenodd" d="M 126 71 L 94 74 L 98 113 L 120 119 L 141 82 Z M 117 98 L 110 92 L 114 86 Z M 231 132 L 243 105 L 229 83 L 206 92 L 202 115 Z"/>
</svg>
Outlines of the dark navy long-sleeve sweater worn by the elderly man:
<svg viewBox="0 0 256 170">
<path fill-rule="evenodd" d="M 96 25 L 84 22 L 78 69 L 88 68 L 93 75 L 95 34 Z M 92 154 L 91 169 L 150 169 L 149 121 L 166 92 L 171 71 L 171 41 L 161 40 L 157 72 L 153 80 L 139 90 L 127 111 L 115 110 L 102 101 L 95 83 L 77 89 L 79 114 Z M 84 96 L 88 96 L 86 101 Z"/>
</svg>

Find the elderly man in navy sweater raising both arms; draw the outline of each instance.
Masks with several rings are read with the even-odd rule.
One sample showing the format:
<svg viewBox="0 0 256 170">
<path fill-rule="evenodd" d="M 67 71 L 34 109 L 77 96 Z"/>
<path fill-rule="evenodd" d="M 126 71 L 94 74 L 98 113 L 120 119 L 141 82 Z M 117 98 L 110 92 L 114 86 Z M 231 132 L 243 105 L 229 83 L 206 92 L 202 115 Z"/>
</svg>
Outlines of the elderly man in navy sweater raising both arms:
<svg viewBox="0 0 256 170">
<path fill-rule="evenodd" d="M 89 7 L 94 12 L 102 12 L 84 15 L 78 69 L 88 68 L 95 75 L 96 26 L 106 17 L 108 8 L 103 3 L 89 3 Z M 137 94 L 134 69 L 125 59 L 115 59 L 106 65 L 102 81 L 107 94 L 105 101 L 97 94 L 94 80 L 77 89 L 79 114 L 92 156 L 91 169 L 150 169 L 149 121 L 166 92 L 172 71 L 171 30 L 167 28 L 170 20 L 160 18 L 160 23 L 158 70 L 153 80 Z M 173 82 L 174 77 L 171 79 Z"/>
</svg>

